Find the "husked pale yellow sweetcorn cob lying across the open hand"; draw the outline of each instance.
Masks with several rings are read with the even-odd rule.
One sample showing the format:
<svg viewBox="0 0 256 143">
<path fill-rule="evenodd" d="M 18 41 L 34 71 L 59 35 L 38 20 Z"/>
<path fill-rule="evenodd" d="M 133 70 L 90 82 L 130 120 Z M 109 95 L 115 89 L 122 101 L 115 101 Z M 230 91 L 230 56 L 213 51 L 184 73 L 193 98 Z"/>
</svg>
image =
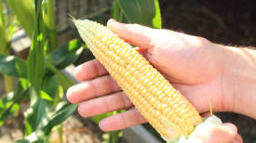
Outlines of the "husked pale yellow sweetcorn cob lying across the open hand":
<svg viewBox="0 0 256 143">
<path fill-rule="evenodd" d="M 95 58 L 161 136 L 188 136 L 202 122 L 193 105 L 135 48 L 97 22 L 74 24 Z"/>
</svg>

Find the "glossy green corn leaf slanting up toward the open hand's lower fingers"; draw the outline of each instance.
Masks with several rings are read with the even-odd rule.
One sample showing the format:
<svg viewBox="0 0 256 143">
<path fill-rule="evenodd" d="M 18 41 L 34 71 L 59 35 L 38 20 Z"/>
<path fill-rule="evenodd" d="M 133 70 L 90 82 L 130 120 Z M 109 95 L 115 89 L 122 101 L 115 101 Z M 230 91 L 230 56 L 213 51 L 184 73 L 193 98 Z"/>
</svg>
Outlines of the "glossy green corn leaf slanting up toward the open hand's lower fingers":
<svg viewBox="0 0 256 143">
<path fill-rule="evenodd" d="M 48 113 L 43 119 L 44 122 L 41 122 L 30 136 L 20 139 L 16 143 L 42 142 L 44 137 L 50 133 L 51 129 L 70 117 L 76 108 L 76 104 L 68 102 L 59 103 L 56 110 Z"/>
</svg>

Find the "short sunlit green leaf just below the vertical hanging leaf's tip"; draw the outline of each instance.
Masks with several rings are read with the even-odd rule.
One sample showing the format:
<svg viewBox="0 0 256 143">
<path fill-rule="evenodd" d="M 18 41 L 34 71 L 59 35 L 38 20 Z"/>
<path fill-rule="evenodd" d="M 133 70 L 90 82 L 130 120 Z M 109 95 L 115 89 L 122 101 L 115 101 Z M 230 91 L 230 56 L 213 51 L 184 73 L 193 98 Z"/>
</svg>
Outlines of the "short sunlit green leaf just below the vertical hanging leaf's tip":
<svg viewBox="0 0 256 143">
<path fill-rule="evenodd" d="M 32 134 L 38 125 L 42 122 L 42 118 L 46 116 L 50 106 L 49 102 L 41 97 L 44 97 L 45 92 L 40 92 L 34 89 L 33 87 L 30 89 L 31 96 L 31 106 L 28 110 L 25 111 L 25 135 Z M 49 97 L 49 96 L 48 96 Z"/>
</svg>

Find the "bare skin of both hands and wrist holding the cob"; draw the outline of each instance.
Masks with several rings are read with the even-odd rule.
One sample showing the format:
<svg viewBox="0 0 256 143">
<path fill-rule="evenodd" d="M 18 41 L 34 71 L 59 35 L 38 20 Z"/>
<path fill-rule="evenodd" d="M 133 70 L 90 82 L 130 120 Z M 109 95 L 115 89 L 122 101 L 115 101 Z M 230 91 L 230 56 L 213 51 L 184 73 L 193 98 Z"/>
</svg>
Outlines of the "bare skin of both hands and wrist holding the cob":
<svg viewBox="0 0 256 143">
<path fill-rule="evenodd" d="M 253 78 L 255 50 L 216 45 L 202 37 L 122 24 L 115 20 L 109 20 L 108 27 L 129 44 L 140 47 L 141 54 L 200 113 L 209 112 L 210 101 L 214 111 L 234 111 L 256 118 L 253 110 L 256 102 L 253 96 L 256 93 L 256 79 Z M 100 123 L 102 130 L 113 131 L 146 123 L 98 60 L 78 66 L 74 76 L 81 83 L 71 87 L 67 97 L 72 103 L 79 103 L 81 116 L 128 110 L 103 119 Z M 232 123 L 213 125 L 203 130 L 189 142 L 243 142 Z"/>
</svg>

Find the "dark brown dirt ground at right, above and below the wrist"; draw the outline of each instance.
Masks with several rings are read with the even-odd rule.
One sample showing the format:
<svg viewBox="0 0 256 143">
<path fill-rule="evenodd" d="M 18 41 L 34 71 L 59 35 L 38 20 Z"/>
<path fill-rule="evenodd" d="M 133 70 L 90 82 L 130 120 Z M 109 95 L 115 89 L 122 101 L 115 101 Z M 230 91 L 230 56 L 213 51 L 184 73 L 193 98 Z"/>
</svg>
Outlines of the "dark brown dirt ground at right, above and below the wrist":
<svg viewBox="0 0 256 143">
<path fill-rule="evenodd" d="M 160 0 L 163 27 L 202 36 L 223 45 L 256 45 L 256 1 Z M 217 114 L 235 123 L 245 143 L 256 143 L 256 121 L 231 112 Z"/>
</svg>

